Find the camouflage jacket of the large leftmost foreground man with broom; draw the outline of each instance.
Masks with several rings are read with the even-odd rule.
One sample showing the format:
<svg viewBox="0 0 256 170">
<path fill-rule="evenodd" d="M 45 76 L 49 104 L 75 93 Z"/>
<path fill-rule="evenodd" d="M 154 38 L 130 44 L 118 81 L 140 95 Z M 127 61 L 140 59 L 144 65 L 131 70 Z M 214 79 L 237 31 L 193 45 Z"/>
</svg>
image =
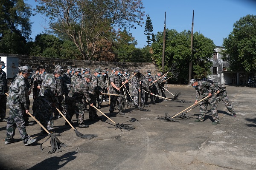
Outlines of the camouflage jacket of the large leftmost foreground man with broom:
<svg viewBox="0 0 256 170">
<path fill-rule="evenodd" d="M 25 77 L 17 76 L 10 86 L 8 97 L 9 108 L 17 110 L 29 110 L 28 89 Z"/>
</svg>

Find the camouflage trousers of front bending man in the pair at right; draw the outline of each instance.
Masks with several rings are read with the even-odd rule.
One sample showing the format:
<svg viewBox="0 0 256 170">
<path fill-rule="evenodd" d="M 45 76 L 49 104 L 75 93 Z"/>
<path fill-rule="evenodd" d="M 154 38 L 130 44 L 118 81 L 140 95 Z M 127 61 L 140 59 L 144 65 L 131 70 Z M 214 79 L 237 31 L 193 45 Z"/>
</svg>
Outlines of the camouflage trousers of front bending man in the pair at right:
<svg viewBox="0 0 256 170">
<path fill-rule="evenodd" d="M 212 119 L 215 122 L 219 122 L 219 117 L 218 117 L 218 111 L 217 111 L 217 106 L 218 106 L 218 102 L 216 102 L 214 97 L 211 97 L 209 99 L 207 99 L 206 101 L 201 102 L 200 104 L 200 114 L 198 116 L 198 119 L 203 121 L 204 120 L 204 116 L 205 113 L 207 111 L 207 106 L 210 106 L 210 111 L 212 113 Z"/>
</svg>

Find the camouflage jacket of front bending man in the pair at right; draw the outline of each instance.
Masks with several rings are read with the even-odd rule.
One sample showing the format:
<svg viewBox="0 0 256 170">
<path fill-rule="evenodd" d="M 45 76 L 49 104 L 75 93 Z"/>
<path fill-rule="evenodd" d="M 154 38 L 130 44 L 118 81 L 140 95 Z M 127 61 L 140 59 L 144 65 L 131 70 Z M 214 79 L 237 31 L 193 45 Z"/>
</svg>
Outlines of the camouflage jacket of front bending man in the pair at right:
<svg viewBox="0 0 256 170">
<path fill-rule="evenodd" d="M 214 85 L 206 81 L 198 81 L 198 86 L 195 87 L 195 100 L 199 100 L 200 94 L 205 98 L 209 93 L 213 94 Z"/>
</svg>

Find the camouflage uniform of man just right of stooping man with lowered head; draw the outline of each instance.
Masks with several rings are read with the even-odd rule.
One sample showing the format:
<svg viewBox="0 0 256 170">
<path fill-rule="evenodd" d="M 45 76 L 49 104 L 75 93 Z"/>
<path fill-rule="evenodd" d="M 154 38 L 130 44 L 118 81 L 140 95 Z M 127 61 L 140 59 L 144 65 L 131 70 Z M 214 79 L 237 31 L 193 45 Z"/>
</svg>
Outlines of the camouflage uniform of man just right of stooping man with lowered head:
<svg viewBox="0 0 256 170">
<path fill-rule="evenodd" d="M 99 85 L 98 85 L 98 78 L 95 75 L 92 75 L 92 80 L 89 84 L 89 96 L 91 99 L 91 103 L 93 103 L 94 106 L 96 106 L 96 99 L 97 96 L 99 95 Z M 95 120 L 99 116 L 97 115 L 97 110 L 96 108 L 93 108 L 92 106 L 89 106 L 89 119 L 90 120 Z"/>
</svg>

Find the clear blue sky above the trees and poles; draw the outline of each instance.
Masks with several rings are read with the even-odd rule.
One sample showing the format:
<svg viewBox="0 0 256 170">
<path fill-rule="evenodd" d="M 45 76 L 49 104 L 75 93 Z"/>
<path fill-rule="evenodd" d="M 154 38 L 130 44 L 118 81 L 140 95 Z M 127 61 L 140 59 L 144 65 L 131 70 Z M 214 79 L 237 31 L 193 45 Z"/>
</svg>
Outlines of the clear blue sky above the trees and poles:
<svg viewBox="0 0 256 170">
<path fill-rule="evenodd" d="M 233 24 L 247 14 L 256 15 L 256 2 L 254 0 L 142 0 L 145 14 L 151 18 L 154 34 L 163 32 L 164 14 L 166 12 L 166 28 L 178 32 L 191 30 L 192 14 L 194 10 L 194 32 L 199 32 L 213 40 L 214 44 L 221 46 L 223 38 L 233 31 Z M 25 3 L 38 5 L 35 0 Z M 146 17 L 144 17 L 146 19 Z M 144 22 L 145 22 L 144 19 Z M 32 34 L 34 40 L 37 34 L 44 32 L 47 26 L 44 16 L 36 14 L 31 17 Z M 137 48 L 147 45 L 144 35 L 145 24 L 131 33 L 137 40 Z"/>
</svg>

